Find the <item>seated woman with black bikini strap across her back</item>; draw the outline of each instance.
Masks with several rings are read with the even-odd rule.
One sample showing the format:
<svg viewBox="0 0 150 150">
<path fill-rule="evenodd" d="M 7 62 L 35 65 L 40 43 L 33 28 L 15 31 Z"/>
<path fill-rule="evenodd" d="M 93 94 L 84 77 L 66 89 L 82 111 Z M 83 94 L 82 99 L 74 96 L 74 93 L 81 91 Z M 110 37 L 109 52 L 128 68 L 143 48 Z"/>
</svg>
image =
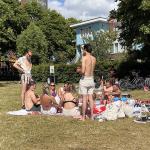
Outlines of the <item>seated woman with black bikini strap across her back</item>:
<svg viewBox="0 0 150 150">
<path fill-rule="evenodd" d="M 72 84 L 68 84 L 65 88 L 65 94 L 62 99 L 63 115 L 72 117 L 80 116 L 77 104 L 77 99 L 74 96 L 74 87 Z"/>
</svg>

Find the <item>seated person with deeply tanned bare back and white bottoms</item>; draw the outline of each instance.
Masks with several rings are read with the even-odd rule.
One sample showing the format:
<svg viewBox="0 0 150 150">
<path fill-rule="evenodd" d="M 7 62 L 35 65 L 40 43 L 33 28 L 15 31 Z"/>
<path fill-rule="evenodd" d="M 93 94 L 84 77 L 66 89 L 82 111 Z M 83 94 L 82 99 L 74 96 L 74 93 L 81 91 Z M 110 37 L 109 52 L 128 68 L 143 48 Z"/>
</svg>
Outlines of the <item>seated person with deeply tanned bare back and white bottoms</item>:
<svg viewBox="0 0 150 150">
<path fill-rule="evenodd" d="M 47 87 L 43 85 L 43 94 L 40 96 L 41 112 L 43 114 L 56 114 L 59 107 L 55 97 L 48 95 Z"/>
</svg>

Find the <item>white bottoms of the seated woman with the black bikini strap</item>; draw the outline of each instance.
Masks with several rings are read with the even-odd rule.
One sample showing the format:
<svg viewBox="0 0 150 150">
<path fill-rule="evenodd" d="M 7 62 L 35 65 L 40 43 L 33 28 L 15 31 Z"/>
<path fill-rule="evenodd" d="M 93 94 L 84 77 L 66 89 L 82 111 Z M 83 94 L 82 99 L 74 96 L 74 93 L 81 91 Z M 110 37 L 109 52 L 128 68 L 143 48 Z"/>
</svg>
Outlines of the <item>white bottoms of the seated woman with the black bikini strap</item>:
<svg viewBox="0 0 150 150">
<path fill-rule="evenodd" d="M 63 108 L 63 115 L 64 116 L 79 116 L 80 115 L 80 111 L 78 107 L 74 107 L 72 109 L 65 109 Z"/>
</svg>

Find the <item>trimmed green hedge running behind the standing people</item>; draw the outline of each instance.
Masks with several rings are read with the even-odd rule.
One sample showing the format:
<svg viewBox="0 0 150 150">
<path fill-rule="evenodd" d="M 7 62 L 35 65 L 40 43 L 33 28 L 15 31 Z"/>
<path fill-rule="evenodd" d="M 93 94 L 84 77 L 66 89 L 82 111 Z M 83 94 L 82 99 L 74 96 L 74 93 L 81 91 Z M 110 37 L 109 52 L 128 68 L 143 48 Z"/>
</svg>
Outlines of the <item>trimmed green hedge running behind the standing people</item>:
<svg viewBox="0 0 150 150">
<path fill-rule="evenodd" d="M 108 69 L 110 66 L 114 65 L 116 62 L 111 61 L 103 61 L 99 62 L 96 65 L 95 78 L 98 79 L 101 75 L 106 76 Z M 47 78 L 50 76 L 49 73 L 50 64 L 40 64 L 37 66 L 33 66 L 32 68 L 32 76 L 36 81 L 47 81 Z M 64 83 L 66 81 L 70 81 L 73 83 L 79 82 L 80 75 L 76 73 L 77 64 L 74 65 L 66 65 L 66 64 L 55 64 L 55 76 L 56 82 Z"/>
</svg>

